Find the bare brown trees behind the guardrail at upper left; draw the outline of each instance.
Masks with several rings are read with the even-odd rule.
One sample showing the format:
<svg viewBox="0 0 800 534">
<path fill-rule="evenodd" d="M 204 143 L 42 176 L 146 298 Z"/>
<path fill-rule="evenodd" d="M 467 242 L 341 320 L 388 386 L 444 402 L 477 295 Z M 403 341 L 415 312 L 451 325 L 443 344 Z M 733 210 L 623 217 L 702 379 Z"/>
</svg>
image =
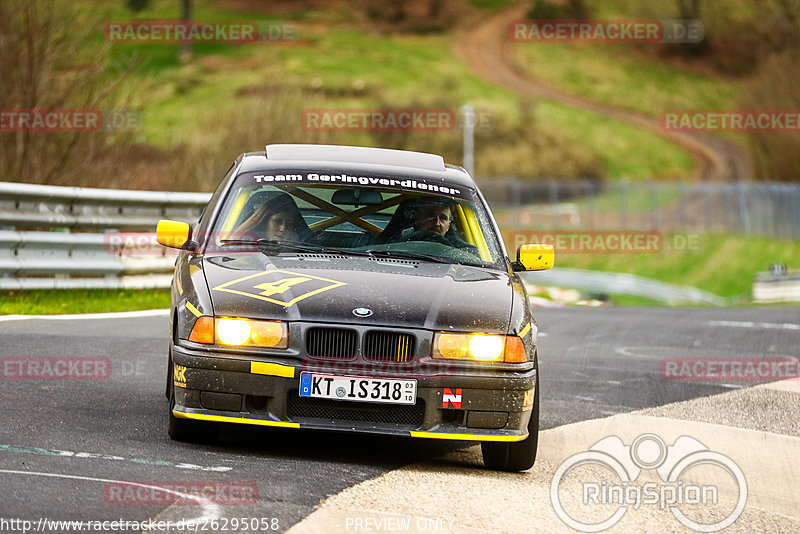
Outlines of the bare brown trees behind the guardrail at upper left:
<svg viewBox="0 0 800 534">
<path fill-rule="evenodd" d="M 94 112 L 125 105 L 117 94 L 125 77 L 106 76 L 108 45 L 97 45 L 95 31 L 82 24 L 81 14 L 66 2 L 0 2 L 1 107 L 28 113 L 34 109 Z M 0 132 L 0 176 L 25 182 L 74 182 L 85 178 L 93 161 L 127 138 L 102 130 Z"/>
</svg>

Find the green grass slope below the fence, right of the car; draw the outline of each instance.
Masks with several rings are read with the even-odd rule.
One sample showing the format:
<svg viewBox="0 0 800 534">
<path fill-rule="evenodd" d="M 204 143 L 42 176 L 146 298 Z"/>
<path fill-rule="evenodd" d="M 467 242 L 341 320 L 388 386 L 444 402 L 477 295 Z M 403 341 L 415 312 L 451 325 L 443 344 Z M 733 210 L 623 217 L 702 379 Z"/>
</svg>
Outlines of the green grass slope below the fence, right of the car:
<svg viewBox="0 0 800 534">
<path fill-rule="evenodd" d="M 556 266 L 630 273 L 746 301 L 757 273 L 800 258 L 798 241 L 709 234 L 696 236 L 697 249 L 687 250 L 685 237 L 665 236 L 665 250 L 656 254 L 557 253 Z"/>
</svg>

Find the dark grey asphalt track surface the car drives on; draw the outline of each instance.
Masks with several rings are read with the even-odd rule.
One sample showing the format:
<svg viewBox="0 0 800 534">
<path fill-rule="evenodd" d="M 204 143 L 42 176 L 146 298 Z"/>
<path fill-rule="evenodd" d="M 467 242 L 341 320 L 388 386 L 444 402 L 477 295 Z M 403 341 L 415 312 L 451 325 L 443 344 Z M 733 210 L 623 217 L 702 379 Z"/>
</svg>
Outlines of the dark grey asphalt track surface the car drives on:
<svg viewBox="0 0 800 534">
<path fill-rule="evenodd" d="M 543 428 L 742 387 L 665 381 L 663 358 L 800 357 L 798 308 L 539 309 L 535 316 L 543 334 Z M 0 518 L 31 520 L 35 528 L 40 518 L 255 517 L 282 531 L 328 495 L 458 446 L 244 426 L 213 445 L 172 442 L 163 393 L 167 331 L 165 316 L 0 320 L 3 365 L 21 356 L 105 357 L 111 364 L 101 380 L 13 380 L 4 373 Z M 112 497 L 131 482 L 212 481 L 255 487 L 258 499 L 208 508 L 171 506 L 163 492 L 126 504 Z M 148 495 L 161 501 L 148 502 Z M 14 531 L 2 526 L 0 520 L 0 531 Z M 248 531 L 232 526 L 228 531 Z"/>
</svg>

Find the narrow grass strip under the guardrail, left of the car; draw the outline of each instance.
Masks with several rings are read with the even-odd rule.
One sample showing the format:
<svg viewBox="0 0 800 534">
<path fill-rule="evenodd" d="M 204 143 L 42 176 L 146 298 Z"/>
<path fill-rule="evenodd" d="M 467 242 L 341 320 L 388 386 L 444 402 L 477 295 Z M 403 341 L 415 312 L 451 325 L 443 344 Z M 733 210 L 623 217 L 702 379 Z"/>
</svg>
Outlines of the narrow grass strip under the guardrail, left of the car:
<svg viewBox="0 0 800 534">
<path fill-rule="evenodd" d="M 69 289 L 0 292 L 0 315 L 102 313 L 169 308 L 169 289 Z"/>
</svg>

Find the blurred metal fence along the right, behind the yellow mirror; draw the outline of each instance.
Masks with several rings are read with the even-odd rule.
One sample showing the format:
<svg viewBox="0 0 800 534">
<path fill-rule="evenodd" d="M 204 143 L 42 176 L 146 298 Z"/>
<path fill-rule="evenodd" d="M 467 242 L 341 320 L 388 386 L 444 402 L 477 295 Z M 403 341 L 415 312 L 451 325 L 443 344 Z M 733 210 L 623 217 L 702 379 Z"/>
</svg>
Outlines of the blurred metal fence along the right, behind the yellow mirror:
<svg viewBox="0 0 800 534">
<path fill-rule="evenodd" d="M 656 230 L 800 239 L 800 184 L 478 181 L 495 215 L 542 230 Z M 535 225 L 535 226 L 533 226 Z"/>
</svg>

